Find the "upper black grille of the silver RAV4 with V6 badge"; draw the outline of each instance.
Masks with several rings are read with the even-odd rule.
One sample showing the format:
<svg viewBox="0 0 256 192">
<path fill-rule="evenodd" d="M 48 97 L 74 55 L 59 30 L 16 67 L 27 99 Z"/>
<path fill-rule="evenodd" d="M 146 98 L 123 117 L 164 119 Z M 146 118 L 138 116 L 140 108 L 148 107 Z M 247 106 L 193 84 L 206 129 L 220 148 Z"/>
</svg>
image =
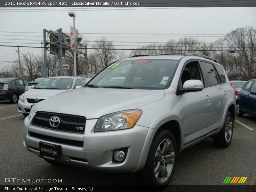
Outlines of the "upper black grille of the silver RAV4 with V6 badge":
<svg viewBox="0 0 256 192">
<path fill-rule="evenodd" d="M 52 116 L 57 116 L 60 119 L 58 127 L 51 126 L 50 119 Z M 85 122 L 86 119 L 83 116 L 38 111 L 33 118 L 32 125 L 57 131 L 84 133 Z"/>
</svg>

